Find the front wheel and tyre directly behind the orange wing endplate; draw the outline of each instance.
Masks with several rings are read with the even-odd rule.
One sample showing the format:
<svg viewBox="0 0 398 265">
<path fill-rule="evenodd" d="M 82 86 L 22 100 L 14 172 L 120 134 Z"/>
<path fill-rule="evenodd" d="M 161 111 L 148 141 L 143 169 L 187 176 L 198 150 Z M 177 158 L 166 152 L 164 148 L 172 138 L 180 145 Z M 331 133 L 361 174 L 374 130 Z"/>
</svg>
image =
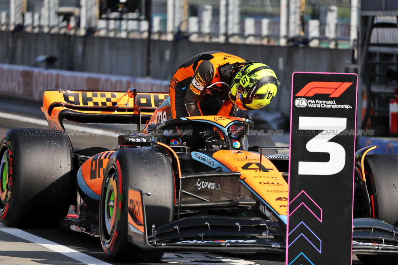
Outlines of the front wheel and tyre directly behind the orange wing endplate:
<svg viewBox="0 0 398 265">
<path fill-rule="evenodd" d="M 129 187 L 140 189 L 143 194 L 150 193 L 143 198 L 149 233 L 152 224 L 160 226 L 170 222 L 175 205 L 174 173 L 170 160 L 154 150 L 117 150 L 107 164 L 101 187 L 100 238 L 105 253 L 123 261 L 158 261 L 163 252 L 145 251 L 127 241 L 128 212 L 125 208 Z"/>
</svg>

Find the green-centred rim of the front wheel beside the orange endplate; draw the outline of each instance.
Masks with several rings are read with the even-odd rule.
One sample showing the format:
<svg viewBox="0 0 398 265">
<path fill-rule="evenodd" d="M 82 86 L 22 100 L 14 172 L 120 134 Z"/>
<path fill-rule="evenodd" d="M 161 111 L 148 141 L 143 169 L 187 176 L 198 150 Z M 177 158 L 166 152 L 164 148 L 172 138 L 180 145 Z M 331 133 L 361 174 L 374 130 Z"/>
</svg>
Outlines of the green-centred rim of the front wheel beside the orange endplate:
<svg viewBox="0 0 398 265">
<path fill-rule="evenodd" d="M 117 214 L 117 210 L 115 210 L 115 206 L 117 205 L 117 185 L 115 178 L 116 173 L 113 173 L 107 181 L 104 201 L 105 205 L 103 205 L 103 208 L 105 209 L 103 219 L 108 234 L 107 240 L 111 238 L 113 230 L 115 229 L 115 220 Z"/>
</svg>

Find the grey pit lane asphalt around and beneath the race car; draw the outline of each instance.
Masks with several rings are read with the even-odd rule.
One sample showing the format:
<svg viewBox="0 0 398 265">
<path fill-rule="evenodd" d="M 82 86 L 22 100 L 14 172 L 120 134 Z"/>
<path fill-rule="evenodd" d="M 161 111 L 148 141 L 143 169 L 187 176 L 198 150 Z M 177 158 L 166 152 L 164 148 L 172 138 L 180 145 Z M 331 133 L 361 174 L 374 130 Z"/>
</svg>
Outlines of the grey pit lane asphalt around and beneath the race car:
<svg viewBox="0 0 398 265">
<path fill-rule="evenodd" d="M 33 119 L 41 119 L 45 121 L 43 113 L 41 113 L 40 105 L 37 103 L 21 103 L 14 99 L 0 98 L 0 135 L 4 135 L 7 130 L 14 128 L 46 128 L 47 126 L 39 126 L 26 121 L 18 121 L 16 119 L 5 119 L 2 113 L 9 113 L 30 117 Z M 104 127 L 101 127 L 104 128 Z M 105 129 L 109 130 L 109 127 Z M 113 148 L 116 144 L 114 136 L 105 135 L 72 135 L 70 136 L 74 148 L 83 149 L 91 146 L 101 146 L 108 149 Z M 289 137 L 286 135 L 281 137 L 273 137 L 275 142 L 283 145 L 288 144 Z M 278 145 L 278 144 L 277 144 Z M 40 218 L 40 208 L 37 209 L 37 216 L 32 218 Z M 107 257 L 103 252 L 99 238 L 91 237 L 82 232 L 74 232 L 69 228 L 21 228 L 21 230 L 45 238 L 62 246 L 69 247 L 81 253 L 85 253 L 100 261 L 110 264 L 132 264 L 118 263 Z M 43 246 L 33 244 L 27 240 L 12 236 L 8 233 L 0 231 L 0 263 L 4 264 L 86 264 L 78 262 L 72 258 L 66 257 L 55 251 L 51 251 Z M 162 261 L 159 263 L 149 264 L 195 264 L 195 265 L 283 265 L 285 264 L 285 256 L 254 253 L 254 254 L 218 254 L 218 253 L 166 253 Z M 95 264 L 95 263 L 92 263 Z M 353 255 L 352 264 L 362 264 Z"/>
</svg>

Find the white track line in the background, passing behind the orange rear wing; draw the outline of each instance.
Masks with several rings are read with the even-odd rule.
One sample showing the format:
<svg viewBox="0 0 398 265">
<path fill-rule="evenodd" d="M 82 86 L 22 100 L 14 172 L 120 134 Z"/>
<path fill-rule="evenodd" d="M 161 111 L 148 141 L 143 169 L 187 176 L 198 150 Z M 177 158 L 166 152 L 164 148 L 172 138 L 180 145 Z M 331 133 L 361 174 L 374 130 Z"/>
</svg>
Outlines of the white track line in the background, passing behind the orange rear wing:
<svg viewBox="0 0 398 265">
<path fill-rule="evenodd" d="M 11 120 L 15 120 L 15 121 L 22 121 L 25 123 L 33 123 L 33 124 L 37 124 L 40 126 L 45 126 L 46 128 L 49 126 L 45 119 L 31 118 L 31 117 L 17 115 L 17 114 L 10 114 L 10 113 L 6 113 L 6 112 L 2 112 L 2 111 L 0 111 L 0 118 L 11 119 Z M 93 128 L 81 126 L 81 125 L 65 125 L 65 129 L 74 130 L 74 131 L 84 131 L 84 132 L 88 132 L 88 133 L 92 132 L 95 135 L 110 136 L 110 137 L 115 137 L 115 138 L 117 138 L 117 136 L 119 136 L 118 134 L 115 134 L 114 131 L 93 129 Z"/>
</svg>

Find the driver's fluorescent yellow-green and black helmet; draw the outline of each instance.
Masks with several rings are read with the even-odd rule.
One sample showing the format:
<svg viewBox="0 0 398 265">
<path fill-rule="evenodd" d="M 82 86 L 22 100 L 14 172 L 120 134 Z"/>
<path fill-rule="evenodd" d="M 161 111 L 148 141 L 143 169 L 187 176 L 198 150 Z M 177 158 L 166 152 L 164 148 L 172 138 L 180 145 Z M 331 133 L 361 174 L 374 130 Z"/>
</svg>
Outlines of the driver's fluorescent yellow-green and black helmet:
<svg viewBox="0 0 398 265">
<path fill-rule="evenodd" d="M 256 62 L 238 71 L 228 95 L 239 109 L 260 109 L 271 102 L 279 86 L 275 72 L 269 66 Z"/>
</svg>

